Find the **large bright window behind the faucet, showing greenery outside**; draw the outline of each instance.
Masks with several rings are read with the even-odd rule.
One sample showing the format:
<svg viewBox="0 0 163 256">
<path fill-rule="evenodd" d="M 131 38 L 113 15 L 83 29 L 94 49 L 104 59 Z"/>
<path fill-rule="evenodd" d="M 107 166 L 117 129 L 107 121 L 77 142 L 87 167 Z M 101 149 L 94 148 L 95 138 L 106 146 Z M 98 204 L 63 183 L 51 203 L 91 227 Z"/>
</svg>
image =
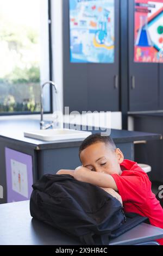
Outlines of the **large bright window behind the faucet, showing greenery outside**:
<svg viewBox="0 0 163 256">
<path fill-rule="evenodd" d="M 0 114 L 40 112 L 49 80 L 48 1 L 0 0 Z M 45 88 L 44 109 L 50 109 Z"/>
</svg>

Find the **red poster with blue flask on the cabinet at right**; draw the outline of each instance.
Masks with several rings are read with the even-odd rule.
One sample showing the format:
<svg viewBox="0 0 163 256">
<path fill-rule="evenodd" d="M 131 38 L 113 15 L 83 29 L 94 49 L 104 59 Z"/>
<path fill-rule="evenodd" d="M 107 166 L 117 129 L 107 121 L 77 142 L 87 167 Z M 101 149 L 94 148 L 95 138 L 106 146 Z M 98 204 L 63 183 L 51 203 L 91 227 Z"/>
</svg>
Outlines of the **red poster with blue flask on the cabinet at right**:
<svg viewBox="0 0 163 256">
<path fill-rule="evenodd" d="M 163 63 L 163 0 L 135 0 L 134 61 Z"/>
</svg>

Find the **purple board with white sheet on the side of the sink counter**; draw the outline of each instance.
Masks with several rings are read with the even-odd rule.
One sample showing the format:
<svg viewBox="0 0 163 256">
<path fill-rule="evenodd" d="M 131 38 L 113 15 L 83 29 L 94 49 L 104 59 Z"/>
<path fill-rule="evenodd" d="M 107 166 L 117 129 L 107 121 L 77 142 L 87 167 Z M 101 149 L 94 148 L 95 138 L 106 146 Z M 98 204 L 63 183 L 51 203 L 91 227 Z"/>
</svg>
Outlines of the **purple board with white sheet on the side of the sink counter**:
<svg viewBox="0 0 163 256">
<path fill-rule="evenodd" d="M 32 156 L 5 148 L 7 202 L 30 199 L 33 184 Z"/>
</svg>

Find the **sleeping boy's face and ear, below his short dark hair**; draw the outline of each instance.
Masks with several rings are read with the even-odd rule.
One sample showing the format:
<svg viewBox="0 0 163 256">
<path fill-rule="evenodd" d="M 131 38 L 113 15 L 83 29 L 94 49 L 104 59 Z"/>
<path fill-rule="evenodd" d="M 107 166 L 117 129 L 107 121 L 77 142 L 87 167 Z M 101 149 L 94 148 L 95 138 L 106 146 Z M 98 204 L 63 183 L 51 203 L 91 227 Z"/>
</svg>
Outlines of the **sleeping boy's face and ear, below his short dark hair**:
<svg viewBox="0 0 163 256">
<path fill-rule="evenodd" d="M 120 163 L 123 159 L 120 149 L 112 150 L 103 142 L 94 143 L 80 153 L 80 160 L 84 167 L 107 174 L 121 174 Z"/>
</svg>

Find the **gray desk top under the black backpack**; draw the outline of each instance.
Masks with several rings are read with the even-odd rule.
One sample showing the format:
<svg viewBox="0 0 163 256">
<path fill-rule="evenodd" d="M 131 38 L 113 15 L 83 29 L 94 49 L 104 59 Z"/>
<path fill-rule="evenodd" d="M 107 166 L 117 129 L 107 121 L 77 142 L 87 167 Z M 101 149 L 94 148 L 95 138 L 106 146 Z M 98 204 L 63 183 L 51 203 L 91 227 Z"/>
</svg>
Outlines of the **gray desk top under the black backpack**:
<svg viewBox="0 0 163 256">
<path fill-rule="evenodd" d="M 134 245 L 163 237 L 163 229 L 142 223 L 109 245 Z M 29 201 L 0 205 L 0 245 L 80 245 L 47 224 L 32 219 Z"/>
</svg>

